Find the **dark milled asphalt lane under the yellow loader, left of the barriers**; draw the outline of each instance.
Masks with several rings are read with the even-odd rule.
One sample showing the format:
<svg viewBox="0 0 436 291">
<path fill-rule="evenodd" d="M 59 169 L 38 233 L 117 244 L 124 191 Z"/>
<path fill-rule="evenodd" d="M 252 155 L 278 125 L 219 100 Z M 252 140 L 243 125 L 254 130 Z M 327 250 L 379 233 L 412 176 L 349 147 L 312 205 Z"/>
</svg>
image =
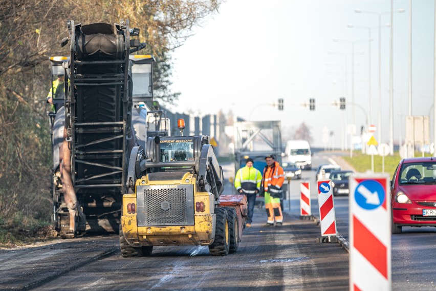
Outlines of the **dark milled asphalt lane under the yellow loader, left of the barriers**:
<svg viewBox="0 0 436 291">
<path fill-rule="evenodd" d="M 209 255 L 207 246 L 160 246 L 149 257 L 123 258 L 118 237 L 56 240 L 0 252 L 0 289 L 35 290 L 294 290 L 348 288 L 348 254 L 316 243 L 313 221 L 285 213 L 264 226 L 256 209 L 239 251 Z"/>
</svg>

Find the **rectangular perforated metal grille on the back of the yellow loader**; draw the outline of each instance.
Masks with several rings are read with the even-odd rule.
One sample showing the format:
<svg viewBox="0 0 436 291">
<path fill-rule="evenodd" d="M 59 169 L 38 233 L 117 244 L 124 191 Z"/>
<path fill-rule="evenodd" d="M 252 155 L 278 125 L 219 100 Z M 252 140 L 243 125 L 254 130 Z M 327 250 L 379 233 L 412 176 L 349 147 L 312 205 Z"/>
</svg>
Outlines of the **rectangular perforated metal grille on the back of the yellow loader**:
<svg viewBox="0 0 436 291">
<path fill-rule="evenodd" d="M 193 201 L 192 185 L 138 186 L 138 226 L 193 225 Z"/>
</svg>

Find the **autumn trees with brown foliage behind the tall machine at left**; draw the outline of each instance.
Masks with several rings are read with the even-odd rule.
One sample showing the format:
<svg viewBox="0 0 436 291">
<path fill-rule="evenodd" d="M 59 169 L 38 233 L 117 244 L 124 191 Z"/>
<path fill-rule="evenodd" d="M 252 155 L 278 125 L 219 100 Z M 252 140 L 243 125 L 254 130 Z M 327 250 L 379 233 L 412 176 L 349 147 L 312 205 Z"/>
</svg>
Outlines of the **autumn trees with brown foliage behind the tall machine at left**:
<svg viewBox="0 0 436 291">
<path fill-rule="evenodd" d="M 141 29 L 146 52 L 163 64 L 157 70 L 156 89 L 171 102 L 178 95 L 165 91 L 170 85 L 169 53 L 217 11 L 220 2 L 0 0 L 0 221 L 17 212 L 50 219 L 48 59 L 69 53 L 68 46 L 60 47 L 60 40 L 69 36 L 67 19 L 76 24 L 129 19 L 131 26 Z"/>
</svg>

